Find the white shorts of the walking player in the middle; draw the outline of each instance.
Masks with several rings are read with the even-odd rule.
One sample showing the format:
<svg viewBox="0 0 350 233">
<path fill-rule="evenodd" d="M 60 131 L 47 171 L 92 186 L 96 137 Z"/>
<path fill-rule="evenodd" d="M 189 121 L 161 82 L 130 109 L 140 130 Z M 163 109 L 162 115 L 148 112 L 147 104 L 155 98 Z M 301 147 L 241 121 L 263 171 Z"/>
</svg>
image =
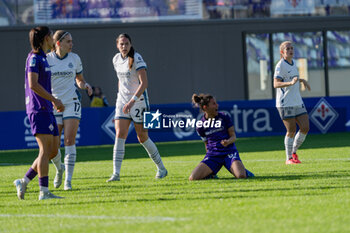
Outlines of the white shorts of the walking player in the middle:
<svg viewBox="0 0 350 233">
<path fill-rule="evenodd" d="M 115 120 L 127 119 L 132 120 L 134 123 L 143 124 L 143 113 L 149 111 L 149 105 L 145 99 L 141 98 L 139 101 L 136 101 L 135 104 L 131 107 L 129 113 L 123 113 L 124 104 L 118 102 L 115 106 Z"/>
</svg>

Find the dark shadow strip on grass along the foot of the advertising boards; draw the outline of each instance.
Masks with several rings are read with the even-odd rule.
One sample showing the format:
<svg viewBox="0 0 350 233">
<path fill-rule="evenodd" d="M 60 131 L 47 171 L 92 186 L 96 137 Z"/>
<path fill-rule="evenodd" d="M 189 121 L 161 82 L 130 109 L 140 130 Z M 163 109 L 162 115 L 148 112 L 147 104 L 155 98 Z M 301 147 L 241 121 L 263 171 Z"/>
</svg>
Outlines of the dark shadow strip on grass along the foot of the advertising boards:
<svg viewBox="0 0 350 233">
<path fill-rule="evenodd" d="M 239 138 L 236 146 L 240 153 L 284 150 L 284 136 Z M 344 146 L 350 146 L 350 132 L 308 135 L 302 149 Z M 205 155 L 204 143 L 201 141 L 157 143 L 157 147 L 162 157 Z M 112 151 L 112 145 L 77 147 L 77 161 L 112 161 Z M 0 166 L 31 164 L 37 154 L 38 150 L 1 151 Z M 136 158 L 148 158 L 144 148 L 139 144 L 126 145 L 125 159 Z"/>
</svg>

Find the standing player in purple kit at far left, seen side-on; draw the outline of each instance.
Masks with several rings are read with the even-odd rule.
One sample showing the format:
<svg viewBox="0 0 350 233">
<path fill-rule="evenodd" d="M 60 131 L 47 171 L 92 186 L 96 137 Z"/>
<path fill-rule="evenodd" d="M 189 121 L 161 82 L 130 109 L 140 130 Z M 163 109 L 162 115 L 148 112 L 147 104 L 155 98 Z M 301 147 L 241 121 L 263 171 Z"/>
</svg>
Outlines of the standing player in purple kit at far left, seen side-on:
<svg viewBox="0 0 350 233">
<path fill-rule="evenodd" d="M 52 31 L 46 27 L 35 27 L 29 32 L 32 51 L 28 54 L 25 69 L 26 113 L 32 134 L 39 145 L 38 157 L 22 179 L 14 181 L 18 198 L 24 199 L 28 183 L 39 176 L 39 200 L 61 198 L 53 195 L 49 187 L 49 161 L 58 150 L 58 129 L 53 107 L 64 110 L 64 105 L 51 94 L 51 71 L 46 53 L 53 48 Z"/>
</svg>

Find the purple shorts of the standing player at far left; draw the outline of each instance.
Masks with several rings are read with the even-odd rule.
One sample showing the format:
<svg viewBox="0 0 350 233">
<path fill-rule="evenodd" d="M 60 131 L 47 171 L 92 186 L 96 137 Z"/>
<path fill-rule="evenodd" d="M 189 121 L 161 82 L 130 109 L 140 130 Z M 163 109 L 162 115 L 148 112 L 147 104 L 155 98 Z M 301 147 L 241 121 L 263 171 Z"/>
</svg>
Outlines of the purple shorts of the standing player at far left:
<svg viewBox="0 0 350 233">
<path fill-rule="evenodd" d="M 29 113 L 28 119 L 32 134 L 52 134 L 58 136 L 55 116 L 52 112 Z"/>
</svg>

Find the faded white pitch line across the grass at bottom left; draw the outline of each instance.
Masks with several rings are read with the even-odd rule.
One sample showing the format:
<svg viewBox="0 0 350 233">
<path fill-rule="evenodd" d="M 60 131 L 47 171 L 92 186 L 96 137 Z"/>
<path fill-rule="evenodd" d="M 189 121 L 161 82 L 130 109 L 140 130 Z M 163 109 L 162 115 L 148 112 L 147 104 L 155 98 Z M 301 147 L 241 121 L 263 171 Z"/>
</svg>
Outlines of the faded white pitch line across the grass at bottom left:
<svg viewBox="0 0 350 233">
<path fill-rule="evenodd" d="M 186 221 L 188 218 L 173 218 L 162 216 L 107 216 L 107 215 L 56 215 L 56 214 L 0 214 L 0 218 L 75 218 L 75 219 L 96 219 L 96 220 L 122 220 L 140 222 L 176 222 Z"/>
</svg>

